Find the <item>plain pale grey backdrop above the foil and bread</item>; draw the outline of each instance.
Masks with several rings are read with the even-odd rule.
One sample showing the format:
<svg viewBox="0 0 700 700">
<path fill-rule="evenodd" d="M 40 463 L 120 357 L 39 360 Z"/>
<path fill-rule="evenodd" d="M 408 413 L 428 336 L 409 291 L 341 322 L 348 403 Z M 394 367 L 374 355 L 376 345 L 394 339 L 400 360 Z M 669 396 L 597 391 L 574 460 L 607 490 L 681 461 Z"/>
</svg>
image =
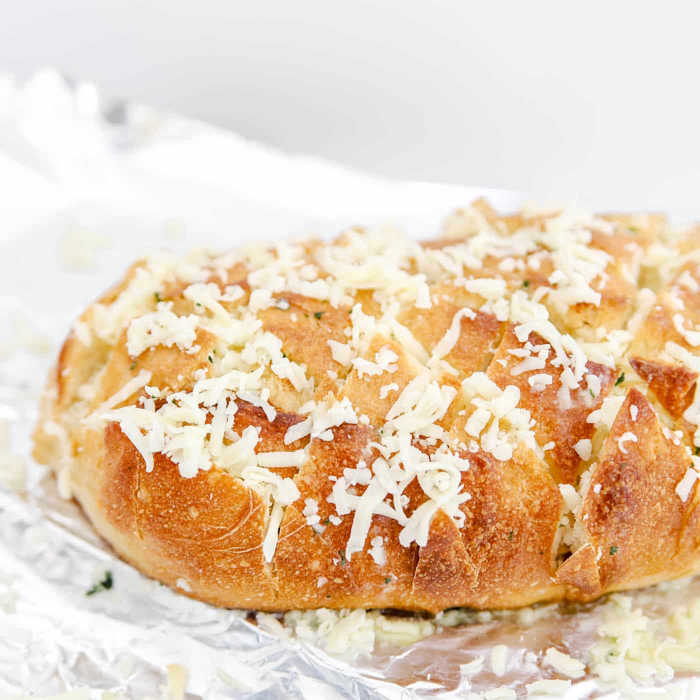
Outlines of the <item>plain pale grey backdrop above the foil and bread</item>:
<svg viewBox="0 0 700 700">
<path fill-rule="evenodd" d="M 700 214 L 698 20 L 668 2 L 14 1 L 0 70 L 56 66 L 381 174 Z"/>
</svg>

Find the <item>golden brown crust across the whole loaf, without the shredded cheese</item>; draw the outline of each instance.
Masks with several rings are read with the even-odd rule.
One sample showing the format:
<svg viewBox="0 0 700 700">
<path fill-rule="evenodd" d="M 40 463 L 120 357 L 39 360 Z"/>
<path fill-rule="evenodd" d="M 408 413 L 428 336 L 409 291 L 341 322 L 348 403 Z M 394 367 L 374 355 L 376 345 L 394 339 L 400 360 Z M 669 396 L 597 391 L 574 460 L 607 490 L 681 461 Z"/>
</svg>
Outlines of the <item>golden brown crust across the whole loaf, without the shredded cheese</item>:
<svg viewBox="0 0 700 700">
<path fill-rule="evenodd" d="M 552 252 L 542 250 L 536 265 L 530 264 L 527 252 L 515 251 L 505 260 L 484 254 L 479 265 L 465 267 L 468 279 L 431 283 L 432 304 L 400 297 L 394 325 L 383 321 L 386 299 L 366 284 L 360 284 L 352 299 L 340 294 L 335 304 L 311 293 L 275 291 L 273 302 L 261 305 L 255 316 L 262 331 L 279 339 L 283 359 L 297 363 L 309 380 L 308 386 L 297 390 L 268 362 L 262 372 L 269 392 L 265 400 L 258 406 L 236 397 L 235 413 L 226 426 L 229 444 L 251 428 L 258 434 L 253 462 L 260 453 L 303 454 L 299 466 L 269 466 L 274 477 L 289 479 L 299 492 L 281 511 L 270 561 L 264 552 L 272 517 L 269 493 L 246 485 L 249 482 L 239 472 L 216 465 L 183 477 L 176 460 L 158 451 L 153 469 L 148 470 L 123 424 L 92 420 L 104 402 L 141 373 L 148 372 L 148 386 L 162 391 L 155 394 L 154 410 L 165 404 L 166 395 L 189 391 L 196 374 L 216 376 L 211 370 L 227 343 L 210 326 L 207 330 L 197 325 L 187 351 L 173 342 L 156 344 L 137 356 L 128 351 L 125 325 L 110 341 L 93 334 L 87 345 L 71 332 L 49 378 L 35 454 L 46 463 L 70 465 L 66 484 L 97 531 L 127 561 L 187 595 L 227 607 L 430 612 L 455 605 L 507 608 L 538 601 L 586 601 L 607 591 L 692 573 L 700 566 L 700 493 L 693 483 L 681 498 L 677 487 L 692 465 L 692 450 L 686 446 L 692 444 L 693 426 L 683 416 L 694 400 L 697 372 L 680 360 L 673 363 L 666 350 L 673 342 L 697 354 L 687 332 L 700 324 L 700 294 L 693 290 L 692 280 L 682 276 L 696 274 L 696 263 L 684 262 L 671 281 L 659 285 L 650 312 L 625 358 L 615 358 L 615 368 L 593 360 L 585 363 L 595 391 L 580 384 L 569 393 L 570 407 L 562 399 L 563 385 L 569 381 L 563 377 L 565 366 L 557 363 L 553 351 L 547 351 L 542 369 L 514 371 L 527 355 L 526 342 L 519 341 L 515 330 L 521 321 L 499 320 L 509 317 L 508 310 L 497 308 L 500 300 L 489 297 L 487 287 L 493 281 L 505 282 L 506 296 L 521 293 L 532 300 L 537 295 L 552 323 L 577 342 L 596 342 L 606 329 L 623 330 L 638 303 L 640 255 L 662 238 L 665 223 L 654 215 L 608 220 L 625 230 L 612 236 L 602 229 L 591 230 L 588 247 L 608 255 L 605 272 L 591 282 L 601 294 L 599 304 L 575 303 L 563 310 L 556 298 L 552 300 L 556 287 L 552 274 L 557 268 Z M 449 221 L 443 239 L 424 248 L 449 251 L 477 235 L 482 225 L 509 235 L 522 226 L 546 228 L 547 216 L 498 216 L 486 202 L 476 202 L 470 213 L 456 214 Z M 305 259 L 315 259 L 322 247 L 318 241 L 305 244 Z M 694 248 L 686 241 L 678 250 L 685 254 Z M 144 265 L 134 265 L 99 303 L 109 307 L 118 302 Z M 414 263 L 411 271 L 416 269 Z M 324 275 L 322 271 L 314 283 L 323 283 Z M 238 285 L 237 295 L 221 301 L 225 311 L 237 313 L 253 303 L 247 276 L 246 264 L 228 262 L 197 279 L 221 294 Z M 465 282 L 472 280 L 485 286 L 477 284 L 470 291 Z M 172 304 L 180 316 L 200 314 L 196 302 L 184 294 L 189 284 L 164 281 L 154 290 L 155 298 L 149 290 L 148 299 L 139 300 L 139 314 L 154 311 L 160 301 Z M 351 309 L 356 304 L 379 325 L 360 349 L 353 345 L 350 360 L 339 361 L 329 341 L 349 343 Z M 464 307 L 472 311 L 455 326 L 447 351 L 433 357 L 449 336 L 455 314 Z M 683 331 L 674 319 L 679 309 Z M 90 325 L 95 312 L 91 307 L 81 321 Z M 236 352 L 244 353 L 247 342 L 237 344 Z M 535 331 L 527 342 L 531 349 L 547 344 Z M 379 362 L 381 353 L 395 356 L 390 370 L 383 368 L 379 374 L 361 370 L 367 363 Z M 629 391 L 624 383 L 616 383 L 623 362 L 629 362 L 624 364 L 628 374 L 631 367 L 638 375 L 633 377 L 636 388 Z M 484 380 L 493 382 L 498 391 L 517 388 L 518 409 L 532 420 L 532 444 L 514 445 L 508 458 L 489 454 L 484 440 L 473 440 L 475 435 L 467 430 L 477 404 L 470 403 L 462 381 L 475 372 L 484 372 Z M 538 373 L 550 377 L 551 383 L 529 381 Z M 427 391 L 429 380 L 444 391 L 454 390 L 455 398 L 430 426 L 436 434 L 444 428 L 444 435 L 430 438 L 430 430 L 416 433 L 410 446 L 432 458 L 449 442 L 451 456 L 463 465 L 468 461 L 457 479 L 458 493 L 465 498 L 453 510 L 447 505 L 435 510 L 423 546 L 414 540 L 404 546 L 399 538 L 407 519 L 430 500 L 424 485 L 414 479 L 402 486 L 402 519 L 374 512 L 363 549 L 348 552 L 358 512 L 339 510 L 332 490 L 338 479 L 350 478 L 348 470 L 360 465 L 377 473 L 375 462 L 388 459 L 380 454 L 391 409 L 409 383 L 421 377 L 426 379 L 421 391 Z M 151 400 L 144 383 L 134 386 L 130 397 L 110 408 L 137 407 Z M 640 389 L 648 389 L 650 395 Z M 606 435 L 607 428 L 590 420 L 591 414 L 601 413 L 605 402 L 614 402 L 619 395 L 626 398 Z M 311 409 L 302 408 L 309 398 L 329 404 L 348 401 L 358 421 L 331 425 L 323 435 L 297 433 L 297 439 L 287 442 L 290 428 L 310 420 Z M 272 419 L 266 414 L 267 399 L 275 409 Z M 661 422 L 650 399 L 668 414 L 659 409 L 668 426 L 680 429 L 678 436 Z M 209 406 L 202 425 L 211 426 L 213 416 L 214 407 Z M 503 433 L 511 429 L 507 420 L 499 428 Z M 593 450 L 590 457 L 587 448 Z M 586 490 L 582 472 L 587 468 L 592 471 Z M 582 496 L 573 513 L 562 497 L 570 485 L 578 485 Z M 360 480 L 349 493 L 361 498 L 366 489 Z M 398 495 L 395 500 L 387 496 L 384 503 L 395 506 Z M 567 523 L 573 527 L 569 529 L 574 545 L 571 539 L 566 540 L 568 545 L 562 543 L 561 528 L 569 527 Z M 372 545 L 373 541 L 381 545 Z"/>
</svg>

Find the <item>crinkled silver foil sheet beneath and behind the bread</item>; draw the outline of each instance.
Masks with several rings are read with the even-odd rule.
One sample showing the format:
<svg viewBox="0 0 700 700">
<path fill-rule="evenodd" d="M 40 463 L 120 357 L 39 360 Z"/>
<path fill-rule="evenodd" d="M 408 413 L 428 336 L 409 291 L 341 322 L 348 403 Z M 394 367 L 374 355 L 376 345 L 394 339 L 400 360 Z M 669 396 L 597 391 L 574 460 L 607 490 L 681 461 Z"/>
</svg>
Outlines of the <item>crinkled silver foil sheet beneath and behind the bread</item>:
<svg viewBox="0 0 700 700">
<path fill-rule="evenodd" d="M 542 664 L 548 647 L 587 658 L 601 623 L 595 604 L 550 606 L 527 625 L 504 616 L 442 629 L 347 659 L 276 638 L 244 611 L 180 596 L 120 561 L 29 456 L 43 381 L 72 319 L 137 256 L 386 221 L 428 237 L 447 211 L 479 195 L 500 209 L 521 201 L 286 155 L 109 102 L 52 71 L 25 85 L 0 77 L 0 421 L 27 482 L 24 493 L 0 487 L 0 696 L 80 688 L 91 698 L 158 696 L 167 665 L 181 664 L 188 699 L 447 699 L 504 685 L 525 697 L 526 683 L 563 677 Z M 633 597 L 656 618 L 699 595 L 696 579 Z M 500 677 L 489 665 L 496 644 L 508 649 Z M 463 677 L 460 664 L 479 655 L 484 670 Z M 700 697 L 687 674 L 672 685 Z M 584 678 L 567 698 L 621 696 Z"/>
</svg>

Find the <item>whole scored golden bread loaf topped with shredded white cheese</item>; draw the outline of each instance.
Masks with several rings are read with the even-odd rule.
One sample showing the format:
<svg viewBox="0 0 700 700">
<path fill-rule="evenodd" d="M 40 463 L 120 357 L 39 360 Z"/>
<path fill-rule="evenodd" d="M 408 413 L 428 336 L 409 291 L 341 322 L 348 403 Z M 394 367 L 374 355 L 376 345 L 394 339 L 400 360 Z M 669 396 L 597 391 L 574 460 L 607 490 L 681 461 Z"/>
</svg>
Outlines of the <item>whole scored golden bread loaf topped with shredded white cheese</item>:
<svg viewBox="0 0 700 700">
<path fill-rule="evenodd" d="M 483 201 L 154 255 L 73 326 L 36 457 L 216 605 L 505 608 L 700 566 L 700 232 Z"/>
</svg>

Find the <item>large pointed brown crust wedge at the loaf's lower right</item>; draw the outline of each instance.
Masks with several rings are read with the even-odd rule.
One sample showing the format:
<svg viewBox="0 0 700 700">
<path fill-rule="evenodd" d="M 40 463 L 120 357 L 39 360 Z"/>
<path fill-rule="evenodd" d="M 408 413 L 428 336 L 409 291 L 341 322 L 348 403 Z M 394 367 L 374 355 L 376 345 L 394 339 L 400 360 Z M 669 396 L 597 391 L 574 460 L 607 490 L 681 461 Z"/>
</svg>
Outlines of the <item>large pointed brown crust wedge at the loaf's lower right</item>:
<svg viewBox="0 0 700 700">
<path fill-rule="evenodd" d="M 634 420 L 631 407 L 637 409 Z M 637 440 L 621 442 L 623 435 Z M 689 573 L 677 555 L 689 545 L 679 536 L 692 498 L 684 503 L 675 493 L 689 465 L 685 448 L 664 435 L 649 400 L 631 389 L 581 507 L 585 537 L 601 555 L 603 589 L 636 588 Z"/>
</svg>

